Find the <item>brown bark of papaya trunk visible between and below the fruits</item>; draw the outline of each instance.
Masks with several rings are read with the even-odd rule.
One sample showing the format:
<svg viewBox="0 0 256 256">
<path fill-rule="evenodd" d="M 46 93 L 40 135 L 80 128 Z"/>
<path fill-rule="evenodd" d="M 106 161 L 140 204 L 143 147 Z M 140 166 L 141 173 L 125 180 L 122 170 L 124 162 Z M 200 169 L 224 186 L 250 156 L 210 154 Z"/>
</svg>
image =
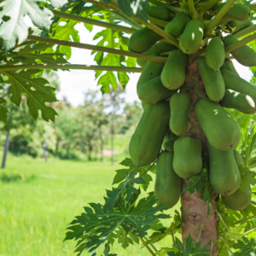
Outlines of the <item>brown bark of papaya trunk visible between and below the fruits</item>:
<svg viewBox="0 0 256 256">
<path fill-rule="evenodd" d="M 189 93 L 192 109 L 189 113 L 189 128 L 186 131 L 186 135 L 200 140 L 203 152 L 206 152 L 207 137 L 201 130 L 201 126 L 194 112 L 195 103 L 206 96 L 204 84 L 201 81 L 201 76 L 197 68 L 197 61 L 189 65 L 186 81 L 182 86 L 182 90 Z M 183 186 L 186 182 L 188 181 L 183 180 Z M 210 204 L 210 215 L 207 217 L 207 203 L 204 203 L 200 195 L 200 192 L 195 192 L 190 195 L 189 192 L 186 191 L 181 197 L 183 243 L 186 243 L 189 234 L 194 244 L 198 236 L 200 236 L 199 241 L 202 241 L 201 248 L 208 246 L 208 249 L 212 249 L 213 251 L 212 255 L 215 256 L 218 255 L 218 217 L 215 212 L 216 203 L 213 198 L 212 205 Z"/>
</svg>

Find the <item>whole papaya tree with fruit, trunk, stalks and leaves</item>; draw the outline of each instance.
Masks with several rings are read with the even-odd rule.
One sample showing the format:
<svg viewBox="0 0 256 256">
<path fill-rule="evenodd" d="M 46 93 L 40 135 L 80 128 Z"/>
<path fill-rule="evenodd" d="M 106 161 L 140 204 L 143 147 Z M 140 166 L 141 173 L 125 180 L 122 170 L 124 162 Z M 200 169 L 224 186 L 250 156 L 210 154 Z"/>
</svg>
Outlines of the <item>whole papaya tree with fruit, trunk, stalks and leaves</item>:
<svg viewBox="0 0 256 256">
<path fill-rule="evenodd" d="M 120 163 L 125 167 L 104 204 L 90 203 L 67 228 L 78 255 L 117 255 L 114 242 L 143 245 L 148 255 L 255 255 L 256 86 L 232 62 L 256 71 L 255 4 L 4 0 L 0 7 L 0 73 L 12 102 L 19 106 L 26 94 L 34 119 L 39 110 L 46 121 L 57 114 L 45 104 L 56 98 L 40 77 L 44 69 L 93 70 L 102 94 L 118 82 L 125 88 L 128 73 L 141 73 L 137 95 L 144 111 L 130 158 Z M 28 30 L 24 15 L 39 30 Z M 79 43 L 78 23 L 89 31 L 102 27 L 96 45 Z M 91 50 L 97 65 L 69 63 L 72 48 Z M 7 110 L 0 110 L 6 121 Z M 181 212 L 166 214 L 179 200 Z M 170 247 L 158 247 L 163 239 Z"/>
</svg>

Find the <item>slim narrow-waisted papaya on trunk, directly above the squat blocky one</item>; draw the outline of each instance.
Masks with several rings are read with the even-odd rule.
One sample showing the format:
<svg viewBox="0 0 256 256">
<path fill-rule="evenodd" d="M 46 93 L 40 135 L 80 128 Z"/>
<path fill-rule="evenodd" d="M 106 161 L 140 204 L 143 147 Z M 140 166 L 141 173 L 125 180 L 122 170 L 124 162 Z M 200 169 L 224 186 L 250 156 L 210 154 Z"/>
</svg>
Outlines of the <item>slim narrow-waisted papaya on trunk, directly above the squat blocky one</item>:
<svg viewBox="0 0 256 256">
<path fill-rule="evenodd" d="M 181 135 L 187 131 L 189 126 L 190 98 L 184 92 L 174 93 L 170 100 L 171 119 L 170 129 L 176 135 Z"/>
</svg>

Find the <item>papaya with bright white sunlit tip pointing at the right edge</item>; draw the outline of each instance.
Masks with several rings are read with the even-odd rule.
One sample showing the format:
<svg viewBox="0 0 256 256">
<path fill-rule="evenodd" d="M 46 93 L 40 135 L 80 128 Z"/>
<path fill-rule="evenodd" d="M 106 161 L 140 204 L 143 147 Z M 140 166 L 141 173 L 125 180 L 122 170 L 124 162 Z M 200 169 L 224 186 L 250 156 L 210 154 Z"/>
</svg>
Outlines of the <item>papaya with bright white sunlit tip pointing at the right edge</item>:
<svg viewBox="0 0 256 256">
<path fill-rule="evenodd" d="M 255 110 L 253 99 L 235 90 L 225 90 L 224 98 L 219 104 L 224 108 L 235 108 L 241 113 Z"/>
</svg>

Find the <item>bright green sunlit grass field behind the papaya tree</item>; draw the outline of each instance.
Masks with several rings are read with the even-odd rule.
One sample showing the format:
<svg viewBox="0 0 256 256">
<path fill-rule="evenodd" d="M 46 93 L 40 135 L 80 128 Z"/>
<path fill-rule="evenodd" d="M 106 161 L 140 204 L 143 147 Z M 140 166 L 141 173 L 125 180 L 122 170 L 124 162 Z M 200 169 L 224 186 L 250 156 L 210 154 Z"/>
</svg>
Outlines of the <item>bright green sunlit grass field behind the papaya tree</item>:
<svg viewBox="0 0 256 256">
<path fill-rule="evenodd" d="M 0 171 L 0 256 L 76 255 L 74 241 L 62 242 L 67 224 L 83 212 L 87 203 L 103 202 L 114 170 L 120 167 L 111 166 L 109 161 L 50 159 L 45 163 L 9 154 L 6 169 Z M 153 187 L 152 183 L 148 192 Z M 157 247 L 171 243 L 169 236 Z M 136 245 L 124 250 L 114 245 L 113 253 L 149 255 L 147 249 L 138 248 Z"/>
</svg>

